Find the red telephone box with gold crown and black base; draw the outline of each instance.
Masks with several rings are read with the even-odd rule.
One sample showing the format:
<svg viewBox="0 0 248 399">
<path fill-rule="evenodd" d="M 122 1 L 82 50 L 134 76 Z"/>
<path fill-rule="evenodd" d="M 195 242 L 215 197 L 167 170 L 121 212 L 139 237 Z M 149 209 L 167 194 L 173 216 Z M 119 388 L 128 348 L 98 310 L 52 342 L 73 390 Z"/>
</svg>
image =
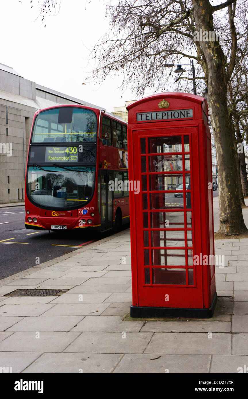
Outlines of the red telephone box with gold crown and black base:
<svg viewBox="0 0 248 399">
<path fill-rule="evenodd" d="M 128 110 L 131 317 L 209 318 L 217 301 L 206 99 L 159 93 Z M 136 187 L 137 187 L 136 183 Z"/>
</svg>

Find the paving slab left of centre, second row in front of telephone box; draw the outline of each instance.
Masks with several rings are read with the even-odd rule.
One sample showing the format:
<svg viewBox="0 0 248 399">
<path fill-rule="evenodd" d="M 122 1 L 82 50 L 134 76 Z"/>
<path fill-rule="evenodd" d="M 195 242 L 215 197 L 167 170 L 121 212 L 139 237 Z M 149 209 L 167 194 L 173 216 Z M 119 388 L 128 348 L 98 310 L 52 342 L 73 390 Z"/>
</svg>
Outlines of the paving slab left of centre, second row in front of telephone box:
<svg viewBox="0 0 248 399">
<path fill-rule="evenodd" d="M 143 353 L 152 335 L 151 332 L 127 332 L 123 338 L 122 332 L 82 332 L 63 352 Z"/>
</svg>

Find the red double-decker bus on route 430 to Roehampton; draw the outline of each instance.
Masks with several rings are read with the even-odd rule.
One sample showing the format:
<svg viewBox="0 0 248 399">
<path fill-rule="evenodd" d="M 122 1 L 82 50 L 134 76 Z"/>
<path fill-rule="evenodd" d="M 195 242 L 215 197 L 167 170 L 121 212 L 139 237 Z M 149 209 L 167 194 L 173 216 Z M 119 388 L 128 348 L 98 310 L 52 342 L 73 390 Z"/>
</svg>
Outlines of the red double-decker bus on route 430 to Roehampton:
<svg viewBox="0 0 248 399">
<path fill-rule="evenodd" d="M 125 122 L 81 105 L 35 113 L 26 169 L 27 229 L 119 230 L 129 223 L 129 192 L 126 184 L 113 182 L 125 181 Z"/>
</svg>

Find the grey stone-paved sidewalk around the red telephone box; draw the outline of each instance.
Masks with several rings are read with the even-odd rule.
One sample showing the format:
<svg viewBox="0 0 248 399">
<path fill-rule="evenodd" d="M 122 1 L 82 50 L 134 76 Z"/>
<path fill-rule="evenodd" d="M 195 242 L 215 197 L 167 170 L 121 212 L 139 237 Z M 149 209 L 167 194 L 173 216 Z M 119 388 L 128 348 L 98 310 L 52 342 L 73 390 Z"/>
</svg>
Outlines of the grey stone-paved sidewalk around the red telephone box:
<svg viewBox="0 0 248 399">
<path fill-rule="evenodd" d="M 248 209 L 243 209 L 248 225 Z M 214 198 L 218 229 L 218 198 Z M 248 238 L 216 240 L 211 319 L 130 319 L 129 230 L 0 287 L 0 367 L 13 373 L 237 373 L 248 364 Z M 125 259 L 124 259 L 125 258 Z M 6 297 L 64 288 L 52 297 Z"/>
</svg>

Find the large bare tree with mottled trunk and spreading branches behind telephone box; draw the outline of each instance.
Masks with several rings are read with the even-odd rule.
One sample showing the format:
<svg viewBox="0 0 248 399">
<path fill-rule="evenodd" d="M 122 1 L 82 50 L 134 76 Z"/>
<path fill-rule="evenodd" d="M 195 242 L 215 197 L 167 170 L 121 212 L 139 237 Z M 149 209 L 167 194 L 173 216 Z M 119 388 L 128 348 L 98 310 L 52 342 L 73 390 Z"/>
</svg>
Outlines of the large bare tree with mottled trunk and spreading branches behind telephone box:
<svg viewBox="0 0 248 399">
<path fill-rule="evenodd" d="M 210 0 L 120 0 L 117 5 L 107 7 L 111 28 L 93 50 L 93 58 L 99 65 L 92 78 L 105 79 L 109 73 L 123 73 L 123 86 L 129 85 L 136 95 L 142 95 L 147 87 L 165 90 L 165 63 L 174 63 L 179 56 L 197 61 L 196 79 L 203 78 L 206 82 L 212 111 L 218 162 L 219 232 L 224 235 L 247 231 L 239 199 L 237 151 L 227 104 L 238 40 L 245 33 L 240 21 L 246 8 L 247 0 L 238 0 L 237 6 L 235 0 L 218 5 L 212 5 Z M 212 33 L 219 28 L 227 35 L 230 50 L 216 35 L 213 38 Z M 208 40 L 201 32 L 207 34 Z"/>
</svg>

